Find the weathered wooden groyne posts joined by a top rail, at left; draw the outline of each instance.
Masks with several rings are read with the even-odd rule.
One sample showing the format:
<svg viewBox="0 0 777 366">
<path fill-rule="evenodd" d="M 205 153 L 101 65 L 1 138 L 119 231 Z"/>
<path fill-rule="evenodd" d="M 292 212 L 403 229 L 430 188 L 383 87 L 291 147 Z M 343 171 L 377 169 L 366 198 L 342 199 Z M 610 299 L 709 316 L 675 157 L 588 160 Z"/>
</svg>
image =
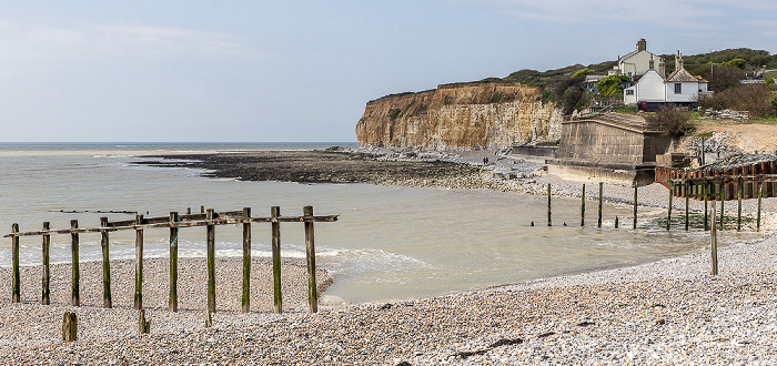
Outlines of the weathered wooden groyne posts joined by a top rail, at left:
<svg viewBox="0 0 777 366">
<path fill-rule="evenodd" d="M 202 207 L 201 211 L 204 211 Z M 134 283 L 134 303 L 135 309 L 143 307 L 143 231 L 150 228 L 170 228 L 170 296 L 169 309 L 178 311 L 178 236 L 180 228 L 183 227 L 206 227 L 206 247 L 208 247 L 208 312 L 215 313 L 215 226 L 242 224 L 243 225 L 243 283 L 242 283 L 242 301 L 241 309 L 248 313 L 251 307 L 250 288 L 251 288 L 251 224 L 252 223 L 270 223 L 272 231 L 272 267 L 273 267 L 273 286 L 274 286 L 274 311 L 281 313 L 282 294 L 281 294 L 281 226 L 282 222 L 302 222 L 305 230 L 305 248 L 307 262 L 307 299 L 309 311 L 317 312 L 317 287 L 315 279 L 315 243 L 313 223 L 315 222 L 335 222 L 337 215 L 314 216 L 313 207 L 305 206 L 302 216 L 281 216 L 281 209 L 273 206 L 270 210 L 269 217 L 251 216 L 251 209 L 245 207 L 242 211 L 215 212 L 209 209 L 205 213 L 191 214 L 191 209 L 185 215 L 179 215 L 176 212 L 171 212 L 169 217 L 150 217 L 144 218 L 142 215 L 137 215 L 134 220 L 109 222 L 108 217 L 100 218 L 100 226 L 92 228 L 79 228 L 77 220 L 70 222 L 70 228 L 51 230 L 48 222 L 43 223 L 42 231 L 20 232 L 19 224 L 13 224 L 11 233 L 4 235 L 11 237 L 12 245 L 12 302 L 21 301 L 21 283 L 19 270 L 19 238 L 21 236 L 42 236 L 43 252 L 43 275 L 42 275 L 42 296 L 41 304 L 49 305 L 50 303 L 50 272 L 49 272 L 49 246 L 51 235 L 69 234 L 71 235 L 71 261 L 72 261 L 72 282 L 71 282 L 71 305 L 80 305 L 79 291 L 79 242 L 80 234 L 100 233 L 102 248 L 102 279 L 103 279 L 103 306 L 112 307 L 111 297 L 111 263 L 109 258 L 110 242 L 109 233 L 117 231 L 134 231 L 135 232 L 135 283 Z"/>
</svg>

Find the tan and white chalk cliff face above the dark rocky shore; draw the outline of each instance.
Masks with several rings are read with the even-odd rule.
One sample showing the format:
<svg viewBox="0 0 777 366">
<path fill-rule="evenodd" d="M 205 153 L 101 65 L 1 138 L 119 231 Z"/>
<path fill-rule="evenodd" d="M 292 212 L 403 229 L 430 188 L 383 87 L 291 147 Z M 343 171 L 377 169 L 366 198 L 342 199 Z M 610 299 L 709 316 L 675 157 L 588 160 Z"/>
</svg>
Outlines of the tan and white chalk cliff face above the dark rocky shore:
<svg viewBox="0 0 777 366">
<path fill-rule="evenodd" d="M 360 146 L 501 149 L 557 141 L 563 113 L 543 104 L 538 88 L 464 83 L 384 96 L 367 103 L 356 124 Z"/>
</svg>

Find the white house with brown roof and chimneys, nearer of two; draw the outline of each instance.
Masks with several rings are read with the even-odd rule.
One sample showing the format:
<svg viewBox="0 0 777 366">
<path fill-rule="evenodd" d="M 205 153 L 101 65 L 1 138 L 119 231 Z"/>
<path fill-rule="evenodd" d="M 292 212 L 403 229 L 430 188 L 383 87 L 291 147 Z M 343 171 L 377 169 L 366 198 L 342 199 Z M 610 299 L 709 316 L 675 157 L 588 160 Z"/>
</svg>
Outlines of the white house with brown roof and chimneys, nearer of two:
<svg viewBox="0 0 777 366">
<path fill-rule="evenodd" d="M 659 70 L 664 60 L 659 59 Z M 623 102 L 626 105 L 638 105 L 640 109 L 654 111 L 659 105 L 690 105 L 698 101 L 699 95 L 708 94 L 707 80 L 694 77 L 683 67 L 683 54 L 675 55 L 675 71 L 664 79 L 654 70 L 650 61 L 649 70 L 630 88 L 624 89 Z"/>
</svg>

